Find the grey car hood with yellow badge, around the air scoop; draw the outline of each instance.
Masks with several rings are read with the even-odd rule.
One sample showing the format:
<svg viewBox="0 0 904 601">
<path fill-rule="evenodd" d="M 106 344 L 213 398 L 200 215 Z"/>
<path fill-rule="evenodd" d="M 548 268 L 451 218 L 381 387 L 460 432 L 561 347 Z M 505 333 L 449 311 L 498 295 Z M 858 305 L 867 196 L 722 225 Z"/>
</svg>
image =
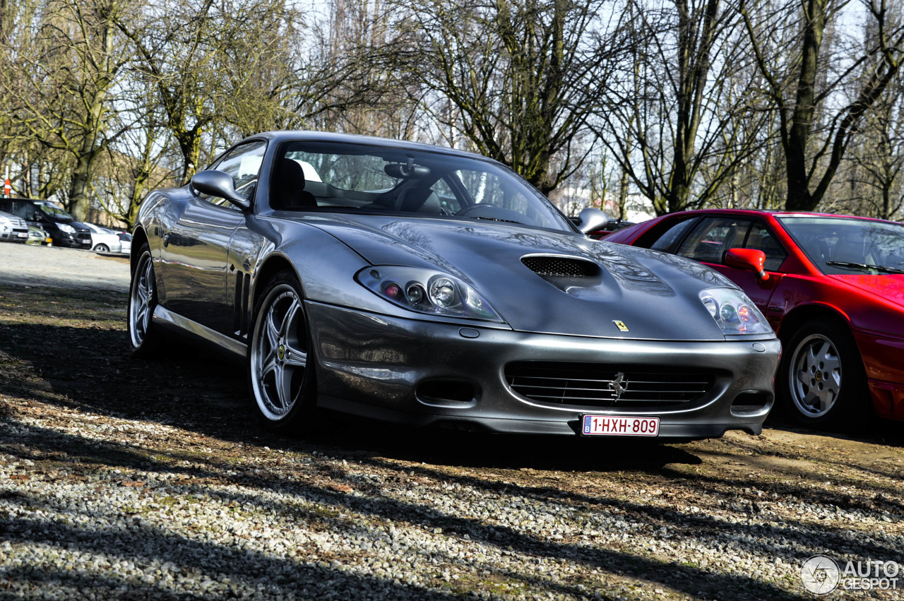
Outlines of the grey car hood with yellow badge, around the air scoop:
<svg viewBox="0 0 904 601">
<path fill-rule="evenodd" d="M 311 215 L 373 265 L 433 268 L 479 292 L 514 330 L 607 338 L 717 341 L 702 305 L 709 287 L 737 288 L 686 258 L 547 230 L 492 222 Z M 543 277 L 525 257 L 590 261 L 593 277 Z M 626 324 L 620 332 L 615 322 Z"/>
</svg>

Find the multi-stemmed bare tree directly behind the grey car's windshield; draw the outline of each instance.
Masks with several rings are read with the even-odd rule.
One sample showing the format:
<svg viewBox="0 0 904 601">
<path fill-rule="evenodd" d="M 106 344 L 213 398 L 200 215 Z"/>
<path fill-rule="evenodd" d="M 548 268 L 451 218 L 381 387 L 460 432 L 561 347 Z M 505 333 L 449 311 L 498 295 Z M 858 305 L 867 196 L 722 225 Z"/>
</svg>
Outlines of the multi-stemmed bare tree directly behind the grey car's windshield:
<svg viewBox="0 0 904 601">
<path fill-rule="evenodd" d="M 582 163 L 577 144 L 617 48 L 605 0 L 394 0 L 393 56 L 453 146 L 465 141 L 549 193 Z"/>
</svg>

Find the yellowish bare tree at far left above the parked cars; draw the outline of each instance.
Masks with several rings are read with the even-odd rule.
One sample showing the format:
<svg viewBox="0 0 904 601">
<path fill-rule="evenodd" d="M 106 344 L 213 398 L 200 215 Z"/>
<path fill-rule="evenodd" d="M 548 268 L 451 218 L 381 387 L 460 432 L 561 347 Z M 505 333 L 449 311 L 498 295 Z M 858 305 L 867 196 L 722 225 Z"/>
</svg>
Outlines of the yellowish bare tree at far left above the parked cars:
<svg viewBox="0 0 904 601">
<path fill-rule="evenodd" d="M 32 6 L 17 32 L 11 68 L 0 76 L 6 114 L 32 140 L 71 156 L 68 208 L 81 218 L 89 207 L 92 170 L 117 135 L 108 131 L 108 117 L 128 55 L 113 22 L 127 0 Z"/>
</svg>

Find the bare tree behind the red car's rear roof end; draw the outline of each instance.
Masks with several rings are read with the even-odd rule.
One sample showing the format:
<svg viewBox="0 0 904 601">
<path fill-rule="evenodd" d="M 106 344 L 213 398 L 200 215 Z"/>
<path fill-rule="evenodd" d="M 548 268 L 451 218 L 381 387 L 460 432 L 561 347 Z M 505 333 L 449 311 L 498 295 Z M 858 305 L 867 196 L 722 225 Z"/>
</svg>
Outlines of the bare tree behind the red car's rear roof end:
<svg viewBox="0 0 904 601">
<path fill-rule="evenodd" d="M 717 202 L 764 118 L 739 20 L 721 0 L 628 0 L 626 14 L 598 134 L 657 214 Z"/>
</svg>

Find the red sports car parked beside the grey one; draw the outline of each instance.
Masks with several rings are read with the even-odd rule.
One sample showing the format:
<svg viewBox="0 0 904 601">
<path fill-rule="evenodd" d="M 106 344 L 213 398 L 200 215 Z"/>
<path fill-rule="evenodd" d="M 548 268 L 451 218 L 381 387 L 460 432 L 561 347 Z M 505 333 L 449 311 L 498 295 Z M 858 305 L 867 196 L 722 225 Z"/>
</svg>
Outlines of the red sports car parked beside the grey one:
<svg viewBox="0 0 904 601">
<path fill-rule="evenodd" d="M 786 211 L 683 211 L 607 236 L 738 284 L 783 343 L 777 395 L 809 427 L 904 420 L 904 225 Z M 711 311 L 719 311 L 712 307 Z"/>
</svg>

